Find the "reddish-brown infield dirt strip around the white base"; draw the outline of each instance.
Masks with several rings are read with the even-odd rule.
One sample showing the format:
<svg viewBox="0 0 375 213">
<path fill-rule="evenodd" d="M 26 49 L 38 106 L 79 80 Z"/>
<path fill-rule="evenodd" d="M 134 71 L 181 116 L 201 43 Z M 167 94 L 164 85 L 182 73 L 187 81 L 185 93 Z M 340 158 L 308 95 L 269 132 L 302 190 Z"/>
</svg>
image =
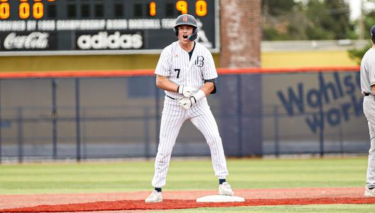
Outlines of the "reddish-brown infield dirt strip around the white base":
<svg viewBox="0 0 375 213">
<path fill-rule="evenodd" d="M 375 203 L 363 197 L 362 187 L 308 187 L 290 189 L 235 190 L 244 197 L 237 203 L 196 203 L 198 197 L 216 195 L 216 190 L 165 191 L 164 202 L 145 204 L 150 191 L 91 194 L 0 195 L 0 212 L 111 211 L 125 209 L 181 209 L 278 204 Z"/>
</svg>

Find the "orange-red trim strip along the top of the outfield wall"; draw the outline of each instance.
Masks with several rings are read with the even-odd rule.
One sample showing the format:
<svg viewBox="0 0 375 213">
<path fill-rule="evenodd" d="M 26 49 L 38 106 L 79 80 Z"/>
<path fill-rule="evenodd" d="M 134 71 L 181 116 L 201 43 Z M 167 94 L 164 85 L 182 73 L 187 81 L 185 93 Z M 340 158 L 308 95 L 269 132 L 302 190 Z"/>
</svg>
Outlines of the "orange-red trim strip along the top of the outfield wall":
<svg viewBox="0 0 375 213">
<path fill-rule="evenodd" d="M 301 67 L 301 68 L 219 68 L 219 75 L 278 74 L 300 72 L 353 72 L 359 67 Z M 131 77 L 152 76 L 154 70 L 108 70 L 108 71 L 45 71 L 45 72 L 0 72 L 0 79 L 10 78 L 67 78 L 67 77 Z"/>
</svg>

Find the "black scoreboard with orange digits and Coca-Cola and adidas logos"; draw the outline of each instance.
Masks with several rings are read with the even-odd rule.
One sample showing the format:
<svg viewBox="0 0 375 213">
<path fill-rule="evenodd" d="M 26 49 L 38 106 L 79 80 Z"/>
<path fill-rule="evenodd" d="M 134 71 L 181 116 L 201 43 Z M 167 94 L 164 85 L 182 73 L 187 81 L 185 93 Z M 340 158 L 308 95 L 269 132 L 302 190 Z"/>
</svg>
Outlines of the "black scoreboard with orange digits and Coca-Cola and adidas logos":
<svg viewBox="0 0 375 213">
<path fill-rule="evenodd" d="M 0 0 L 0 55 L 152 53 L 177 40 L 182 13 L 216 52 L 218 1 Z"/>
</svg>

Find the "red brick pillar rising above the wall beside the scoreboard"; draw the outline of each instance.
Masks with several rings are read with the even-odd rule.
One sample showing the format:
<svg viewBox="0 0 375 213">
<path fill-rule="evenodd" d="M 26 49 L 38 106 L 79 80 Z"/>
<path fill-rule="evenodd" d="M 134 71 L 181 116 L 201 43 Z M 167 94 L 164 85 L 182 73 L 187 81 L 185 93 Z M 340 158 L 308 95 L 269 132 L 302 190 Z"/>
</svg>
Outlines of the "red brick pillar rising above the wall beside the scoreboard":
<svg viewBox="0 0 375 213">
<path fill-rule="evenodd" d="M 261 0 L 220 0 L 220 67 L 260 67 Z"/>
</svg>

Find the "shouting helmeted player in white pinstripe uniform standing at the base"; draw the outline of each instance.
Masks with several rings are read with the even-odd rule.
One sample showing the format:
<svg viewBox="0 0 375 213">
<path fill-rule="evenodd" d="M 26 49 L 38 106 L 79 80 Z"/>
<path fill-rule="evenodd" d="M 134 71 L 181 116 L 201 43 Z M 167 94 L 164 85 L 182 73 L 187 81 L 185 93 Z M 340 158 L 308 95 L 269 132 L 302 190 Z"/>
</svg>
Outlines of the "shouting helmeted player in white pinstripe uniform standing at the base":
<svg viewBox="0 0 375 213">
<path fill-rule="evenodd" d="M 155 158 L 152 191 L 145 202 L 162 202 L 172 148 L 184 121 L 189 119 L 203 133 L 211 151 L 212 165 L 219 179 L 219 194 L 233 195 L 226 182 L 228 175 L 218 125 L 206 96 L 216 92 L 218 74 L 210 51 L 194 41 L 196 19 L 183 14 L 176 19 L 174 33 L 178 41 L 162 51 L 155 69 L 156 85 L 164 89 L 164 108 L 160 125 L 159 146 Z"/>
</svg>

